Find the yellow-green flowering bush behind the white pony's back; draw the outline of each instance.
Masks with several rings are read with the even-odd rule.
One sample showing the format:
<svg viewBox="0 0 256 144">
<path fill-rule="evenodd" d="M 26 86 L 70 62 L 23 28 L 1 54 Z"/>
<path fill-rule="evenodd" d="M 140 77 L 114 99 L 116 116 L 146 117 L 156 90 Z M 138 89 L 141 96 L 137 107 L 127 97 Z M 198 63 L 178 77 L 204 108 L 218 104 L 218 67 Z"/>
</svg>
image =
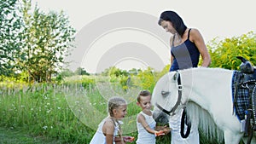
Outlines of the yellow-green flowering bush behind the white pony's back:
<svg viewBox="0 0 256 144">
<path fill-rule="evenodd" d="M 207 46 L 212 58 L 211 67 L 222 67 L 237 70 L 241 61 L 236 58 L 240 55 L 250 60 L 256 66 L 256 35 L 253 32 L 241 37 L 225 38 L 218 42 L 213 39 Z"/>
</svg>

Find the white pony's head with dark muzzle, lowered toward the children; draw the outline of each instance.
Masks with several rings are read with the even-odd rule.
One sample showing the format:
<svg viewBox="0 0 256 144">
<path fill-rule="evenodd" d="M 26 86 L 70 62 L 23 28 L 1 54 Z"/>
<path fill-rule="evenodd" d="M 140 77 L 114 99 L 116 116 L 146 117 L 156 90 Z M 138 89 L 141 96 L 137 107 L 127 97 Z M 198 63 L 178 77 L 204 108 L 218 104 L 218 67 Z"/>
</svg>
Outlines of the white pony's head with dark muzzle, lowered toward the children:
<svg viewBox="0 0 256 144">
<path fill-rule="evenodd" d="M 174 115 L 181 108 L 180 77 L 179 72 L 168 72 L 155 84 L 152 104 L 154 105 L 153 116 L 157 123 L 168 123 L 169 116 Z"/>
</svg>

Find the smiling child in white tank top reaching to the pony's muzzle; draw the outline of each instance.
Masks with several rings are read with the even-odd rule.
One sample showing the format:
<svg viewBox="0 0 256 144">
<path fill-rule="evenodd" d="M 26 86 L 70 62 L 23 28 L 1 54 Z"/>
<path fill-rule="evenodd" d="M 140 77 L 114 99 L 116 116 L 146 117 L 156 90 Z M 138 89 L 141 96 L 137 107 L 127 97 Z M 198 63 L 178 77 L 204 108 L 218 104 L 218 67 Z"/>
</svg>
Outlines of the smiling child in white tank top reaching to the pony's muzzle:
<svg viewBox="0 0 256 144">
<path fill-rule="evenodd" d="M 141 91 L 137 96 L 137 106 L 142 112 L 137 114 L 137 144 L 155 144 L 155 136 L 165 135 L 164 130 L 154 130 L 155 121 L 151 111 L 151 93 L 147 90 Z"/>
</svg>

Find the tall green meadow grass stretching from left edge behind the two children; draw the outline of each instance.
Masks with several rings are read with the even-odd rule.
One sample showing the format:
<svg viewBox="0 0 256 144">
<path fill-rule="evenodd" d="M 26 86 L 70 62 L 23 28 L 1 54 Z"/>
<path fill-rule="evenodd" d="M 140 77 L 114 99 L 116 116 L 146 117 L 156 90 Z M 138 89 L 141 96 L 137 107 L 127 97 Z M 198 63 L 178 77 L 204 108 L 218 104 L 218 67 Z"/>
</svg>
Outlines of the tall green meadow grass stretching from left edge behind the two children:
<svg viewBox="0 0 256 144">
<path fill-rule="evenodd" d="M 113 90 L 104 83 L 86 88 L 81 84 L 2 87 L 0 126 L 26 130 L 30 135 L 54 138 L 60 143 L 87 144 L 102 118 L 108 116 L 108 98 L 123 95 L 129 104 L 122 128 L 125 135 L 137 138 L 136 115 L 141 111 L 136 105 L 137 89 Z M 170 141 L 171 135 L 157 138 L 158 144 Z M 211 142 L 201 139 L 201 143 Z"/>
</svg>

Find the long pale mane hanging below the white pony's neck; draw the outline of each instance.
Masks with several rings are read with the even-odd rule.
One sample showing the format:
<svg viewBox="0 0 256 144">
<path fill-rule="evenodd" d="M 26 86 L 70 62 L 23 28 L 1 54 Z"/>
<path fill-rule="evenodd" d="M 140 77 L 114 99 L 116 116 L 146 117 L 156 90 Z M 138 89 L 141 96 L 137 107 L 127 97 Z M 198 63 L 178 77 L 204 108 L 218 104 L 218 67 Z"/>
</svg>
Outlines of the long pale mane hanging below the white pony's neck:
<svg viewBox="0 0 256 144">
<path fill-rule="evenodd" d="M 189 101 L 186 110 L 193 124 L 199 124 L 199 129 L 207 135 L 210 140 L 216 138 L 219 142 L 224 141 L 224 133 L 218 129 L 211 115 L 195 102 Z"/>
</svg>

